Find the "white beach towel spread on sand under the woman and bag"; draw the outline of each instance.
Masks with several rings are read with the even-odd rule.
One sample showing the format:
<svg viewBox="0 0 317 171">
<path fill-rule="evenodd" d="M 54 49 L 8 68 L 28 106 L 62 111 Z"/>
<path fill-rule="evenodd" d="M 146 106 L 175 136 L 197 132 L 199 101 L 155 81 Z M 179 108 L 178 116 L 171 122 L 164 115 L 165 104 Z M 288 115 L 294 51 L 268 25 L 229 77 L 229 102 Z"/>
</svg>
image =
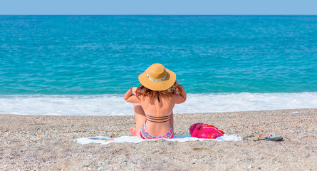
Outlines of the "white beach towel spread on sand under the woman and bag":
<svg viewBox="0 0 317 171">
<path fill-rule="evenodd" d="M 150 139 L 150 140 L 160 140 L 160 139 Z M 142 138 L 137 138 L 135 136 L 122 136 L 119 138 L 108 138 L 104 136 L 96 136 L 96 137 L 90 137 L 90 138 L 78 138 L 74 140 L 75 142 L 78 142 L 80 145 L 89 144 L 89 143 L 98 143 L 103 145 L 108 145 L 111 142 L 133 142 L 133 143 L 139 143 L 143 141 L 150 141 L 145 140 Z M 242 140 L 241 137 L 238 135 L 227 135 L 224 134 L 221 137 L 218 137 L 216 139 L 204 139 L 204 138 L 193 138 L 191 135 L 174 135 L 171 139 L 163 139 L 168 141 L 177 141 L 177 142 L 187 142 L 187 141 L 203 141 L 203 140 L 213 140 L 213 141 L 239 141 Z"/>
</svg>

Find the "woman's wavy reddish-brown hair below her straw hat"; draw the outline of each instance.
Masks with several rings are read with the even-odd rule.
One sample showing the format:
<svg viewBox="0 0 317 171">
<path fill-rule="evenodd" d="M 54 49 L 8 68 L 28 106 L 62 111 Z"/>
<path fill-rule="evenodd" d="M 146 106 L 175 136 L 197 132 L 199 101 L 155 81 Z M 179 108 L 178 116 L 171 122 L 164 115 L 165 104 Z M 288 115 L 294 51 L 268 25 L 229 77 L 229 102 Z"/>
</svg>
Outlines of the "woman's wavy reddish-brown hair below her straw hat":
<svg viewBox="0 0 317 171">
<path fill-rule="evenodd" d="M 141 84 L 135 91 L 137 95 L 153 98 L 157 98 L 158 95 L 160 95 L 160 97 L 172 97 L 177 92 L 182 93 L 182 86 L 177 83 L 177 81 L 175 81 L 174 85 L 167 90 L 150 90 Z"/>
</svg>

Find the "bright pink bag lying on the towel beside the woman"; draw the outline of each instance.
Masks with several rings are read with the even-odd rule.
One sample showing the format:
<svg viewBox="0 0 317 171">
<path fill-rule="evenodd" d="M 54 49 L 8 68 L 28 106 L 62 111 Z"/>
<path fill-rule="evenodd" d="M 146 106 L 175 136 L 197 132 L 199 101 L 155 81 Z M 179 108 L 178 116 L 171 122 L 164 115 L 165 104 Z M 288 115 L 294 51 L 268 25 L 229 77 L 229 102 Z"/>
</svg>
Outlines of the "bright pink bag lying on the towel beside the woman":
<svg viewBox="0 0 317 171">
<path fill-rule="evenodd" d="M 214 125 L 195 123 L 190 126 L 189 133 L 195 138 L 215 139 L 224 135 L 224 131 L 218 130 Z"/>
</svg>

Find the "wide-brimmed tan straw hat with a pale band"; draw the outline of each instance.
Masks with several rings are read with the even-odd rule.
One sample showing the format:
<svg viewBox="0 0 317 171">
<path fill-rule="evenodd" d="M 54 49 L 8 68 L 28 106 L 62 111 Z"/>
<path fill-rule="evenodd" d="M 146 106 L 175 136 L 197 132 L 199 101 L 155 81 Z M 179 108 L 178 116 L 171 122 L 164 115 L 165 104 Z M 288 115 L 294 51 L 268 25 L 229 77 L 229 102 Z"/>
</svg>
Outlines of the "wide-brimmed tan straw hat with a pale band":
<svg viewBox="0 0 317 171">
<path fill-rule="evenodd" d="M 139 76 L 140 83 L 150 90 L 167 90 L 176 81 L 176 74 L 160 63 L 154 63 Z"/>
</svg>

